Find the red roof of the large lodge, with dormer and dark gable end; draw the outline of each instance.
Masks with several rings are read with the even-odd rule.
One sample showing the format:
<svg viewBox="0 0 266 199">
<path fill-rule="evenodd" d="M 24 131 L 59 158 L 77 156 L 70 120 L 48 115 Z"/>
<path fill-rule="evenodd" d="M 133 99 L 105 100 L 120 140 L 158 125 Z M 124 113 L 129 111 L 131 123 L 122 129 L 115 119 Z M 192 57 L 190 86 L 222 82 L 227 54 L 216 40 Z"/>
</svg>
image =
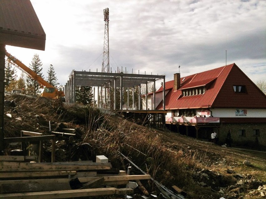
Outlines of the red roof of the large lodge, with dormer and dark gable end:
<svg viewBox="0 0 266 199">
<path fill-rule="evenodd" d="M 185 78 L 185 79 L 184 79 Z M 196 73 L 180 78 L 178 90 L 173 89 L 174 80 L 166 82 L 170 91 L 165 96 L 165 109 L 185 108 L 266 108 L 266 96 L 239 69 L 236 64 Z M 184 81 L 182 81 L 184 80 Z M 235 93 L 233 85 L 245 85 L 248 93 Z M 205 86 L 201 95 L 180 97 L 181 90 Z M 162 91 L 162 88 L 158 92 Z M 162 109 L 162 102 L 156 109 Z"/>
</svg>

